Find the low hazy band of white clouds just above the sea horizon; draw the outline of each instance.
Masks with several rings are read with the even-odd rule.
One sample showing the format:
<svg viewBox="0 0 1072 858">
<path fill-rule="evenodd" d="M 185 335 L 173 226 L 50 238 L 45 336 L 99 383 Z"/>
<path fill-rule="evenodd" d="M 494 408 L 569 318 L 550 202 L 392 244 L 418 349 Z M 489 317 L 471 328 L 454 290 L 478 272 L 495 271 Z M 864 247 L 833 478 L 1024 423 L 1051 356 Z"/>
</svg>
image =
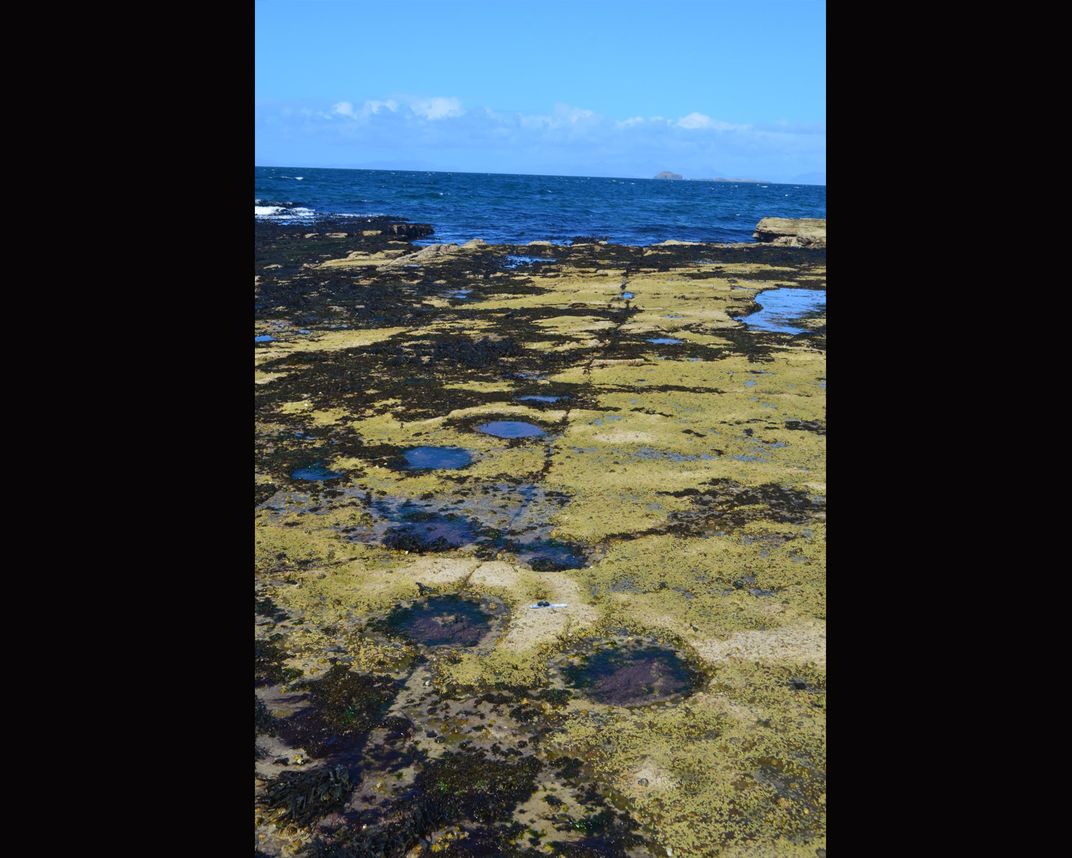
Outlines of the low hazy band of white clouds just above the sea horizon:
<svg viewBox="0 0 1072 858">
<path fill-rule="evenodd" d="M 405 93 L 314 109 L 258 104 L 257 136 L 262 149 L 272 139 L 294 163 L 313 166 L 314 160 L 344 165 L 360 151 L 369 163 L 437 165 L 419 168 L 616 176 L 671 169 L 689 178 L 775 181 L 823 168 L 827 143 L 822 121 L 734 124 L 699 112 L 617 119 L 565 103 L 522 113 Z M 307 148 L 297 149 L 296 140 Z"/>
</svg>

